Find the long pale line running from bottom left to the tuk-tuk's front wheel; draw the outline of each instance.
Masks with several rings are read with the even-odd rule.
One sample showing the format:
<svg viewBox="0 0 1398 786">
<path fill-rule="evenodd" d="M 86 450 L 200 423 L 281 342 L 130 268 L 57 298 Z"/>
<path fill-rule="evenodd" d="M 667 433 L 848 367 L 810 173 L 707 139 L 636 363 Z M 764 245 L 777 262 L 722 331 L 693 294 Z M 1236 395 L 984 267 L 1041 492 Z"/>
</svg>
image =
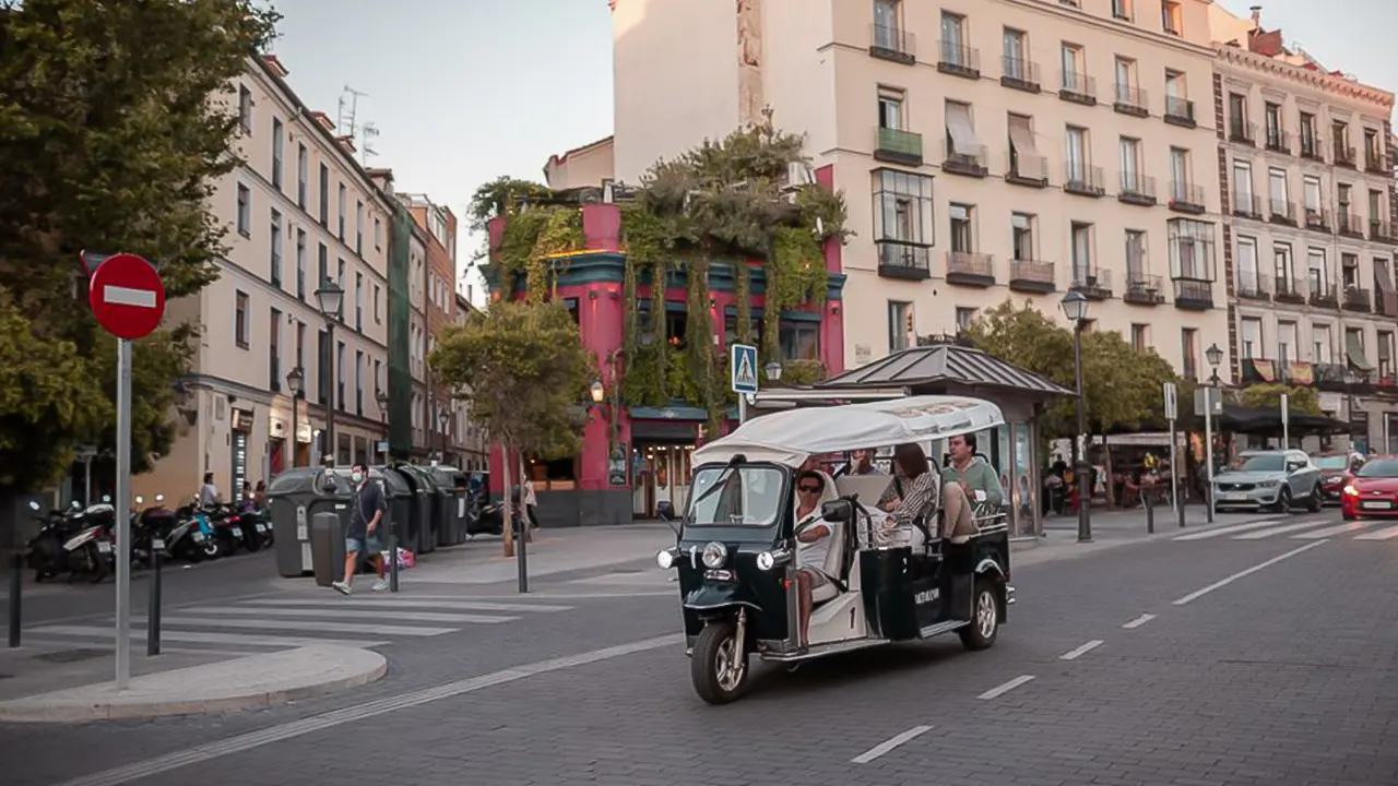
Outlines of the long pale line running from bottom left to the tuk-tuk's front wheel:
<svg viewBox="0 0 1398 786">
<path fill-rule="evenodd" d="M 108 632 L 108 635 L 110 636 L 110 632 Z M 161 775 L 164 772 L 180 769 L 192 764 L 199 764 L 232 754 L 239 754 L 243 751 L 250 751 L 253 748 L 260 748 L 263 745 L 270 745 L 273 743 L 280 743 L 294 737 L 302 737 L 305 734 L 313 734 L 316 731 L 334 729 L 336 726 L 343 726 L 345 723 L 354 723 L 356 720 L 365 720 L 368 717 L 376 717 L 380 715 L 387 715 L 390 712 L 397 712 L 400 709 L 410 709 L 435 701 L 449 699 L 463 694 L 471 694 L 475 691 L 489 688 L 492 685 L 516 683 L 519 680 L 524 680 L 538 674 L 562 671 L 565 669 L 572 669 L 575 666 L 586 666 L 589 663 L 597 663 L 600 660 L 611 660 L 614 657 L 622 657 L 637 652 L 646 652 L 665 646 L 678 648 L 682 645 L 684 645 L 684 636 L 667 635 L 667 636 L 657 636 L 653 639 L 642 639 L 639 642 L 630 642 L 625 645 L 610 646 L 605 649 L 584 652 L 580 655 L 570 655 L 566 657 L 555 657 L 551 660 L 526 663 L 524 666 L 516 666 L 514 669 L 492 671 L 489 674 L 482 674 L 480 677 L 470 677 L 467 680 L 457 680 L 456 683 L 447 683 L 445 685 L 438 685 L 435 688 L 424 688 L 421 691 L 412 691 L 396 696 L 386 696 L 382 699 L 375 699 L 372 702 L 365 702 L 355 706 L 347 706 L 344 709 L 336 709 L 331 712 L 313 715 L 302 720 L 292 720 L 289 723 L 268 726 L 267 729 L 260 729 L 257 731 L 236 734 L 215 743 L 207 743 L 204 745 L 196 745 L 189 750 L 176 751 L 162 757 L 138 761 L 136 764 L 129 764 L 124 766 L 117 766 L 102 772 L 95 772 L 92 775 L 74 778 L 71 780 L 64 780 L 57 786 L 122 786 L 133 780 L 140 780 L 141 778 Z"/>
</svg>

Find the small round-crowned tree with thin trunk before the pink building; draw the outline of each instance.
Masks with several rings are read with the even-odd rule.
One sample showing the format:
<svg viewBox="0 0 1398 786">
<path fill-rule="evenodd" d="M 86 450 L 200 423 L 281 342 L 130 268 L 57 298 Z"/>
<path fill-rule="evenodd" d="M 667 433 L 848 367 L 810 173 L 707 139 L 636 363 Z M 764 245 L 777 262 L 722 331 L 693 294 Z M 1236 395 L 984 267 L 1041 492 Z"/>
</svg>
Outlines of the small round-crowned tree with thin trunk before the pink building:
<svg viewBox="0 0 1398 786">
<path fill-rule="evenodd" d="M 577 404 L 597 364 L 561 303 L 491 303 L 466 324 L 447 327 L 428 362 L 438 379 L 470 401 L 471 420 L 500 446 L 506 495 L 513 456 L 577 455 L 583 425 Z M 512 517 L 506 516 L 506 557 L 514 554 Z"/>
</svg>

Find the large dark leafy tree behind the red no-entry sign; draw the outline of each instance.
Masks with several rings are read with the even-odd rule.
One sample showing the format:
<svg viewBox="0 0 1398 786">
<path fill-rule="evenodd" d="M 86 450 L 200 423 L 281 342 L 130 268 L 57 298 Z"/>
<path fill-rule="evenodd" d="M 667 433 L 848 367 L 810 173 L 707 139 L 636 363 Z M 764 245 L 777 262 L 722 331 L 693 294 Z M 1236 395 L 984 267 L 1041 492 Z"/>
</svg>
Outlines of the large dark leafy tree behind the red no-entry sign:
<svg viewBox="0 0 1398 786">
<path fill-rule="evenodd" d="M 0 3 L 0 484 L 63 474 L 82 442 L 115 448 L 115 348 L 81 295 L 78 252 L 157 262 L 171 299 L 217 277 L 232 172 L 232 80 L 270 41 L 256 0 Z M 210 101 L 218 97 L 221 101 Z M 138 343 L 133 466 L 164 453 L 190 330 Z"/>
</svg>

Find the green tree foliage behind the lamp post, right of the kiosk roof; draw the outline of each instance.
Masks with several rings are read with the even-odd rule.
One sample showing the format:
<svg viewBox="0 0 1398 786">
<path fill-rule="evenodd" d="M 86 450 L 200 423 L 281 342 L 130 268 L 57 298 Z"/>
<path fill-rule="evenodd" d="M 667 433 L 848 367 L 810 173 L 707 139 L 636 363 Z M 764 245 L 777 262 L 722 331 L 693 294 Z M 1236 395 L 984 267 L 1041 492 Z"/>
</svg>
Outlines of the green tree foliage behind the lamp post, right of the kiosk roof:
<svg viewBox="0 0 1398 786">
<path fill-rule="evenodd" d="M 987 309 L 969 336 L 986 352 L 1072 390 L 1076 385 L 1072 331 L 1048 319 L 1032 301 Z M 1160 418 L 1163 383 L 1174 369 L 1153 348 L 1137 351 L 1120 333 L 1082 336 L 1082 386 L 1088 428 L 1093 434 L 1139 429 Z M 1181 399 L 1183 400 L 1183 399 Z M 1055 401 L 1042 425 L 1050 436 L 1076 432 L 1076 401 Z"/>
</svg>

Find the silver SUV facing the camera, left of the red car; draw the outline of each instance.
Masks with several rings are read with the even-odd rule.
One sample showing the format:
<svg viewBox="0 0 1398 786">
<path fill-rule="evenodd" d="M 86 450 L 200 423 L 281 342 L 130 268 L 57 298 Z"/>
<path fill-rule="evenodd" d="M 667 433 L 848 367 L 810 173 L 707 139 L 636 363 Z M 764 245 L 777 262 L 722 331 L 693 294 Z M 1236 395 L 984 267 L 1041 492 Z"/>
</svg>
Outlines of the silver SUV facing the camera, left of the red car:
<svg viewBox="0 0 1398 786">
<path fill-rule="evenodd" d="M 1300 450 L 1248 450 L 1213 476 L 1215 509 L 1320 510 L 1320 469 Z"/>
</svg>

